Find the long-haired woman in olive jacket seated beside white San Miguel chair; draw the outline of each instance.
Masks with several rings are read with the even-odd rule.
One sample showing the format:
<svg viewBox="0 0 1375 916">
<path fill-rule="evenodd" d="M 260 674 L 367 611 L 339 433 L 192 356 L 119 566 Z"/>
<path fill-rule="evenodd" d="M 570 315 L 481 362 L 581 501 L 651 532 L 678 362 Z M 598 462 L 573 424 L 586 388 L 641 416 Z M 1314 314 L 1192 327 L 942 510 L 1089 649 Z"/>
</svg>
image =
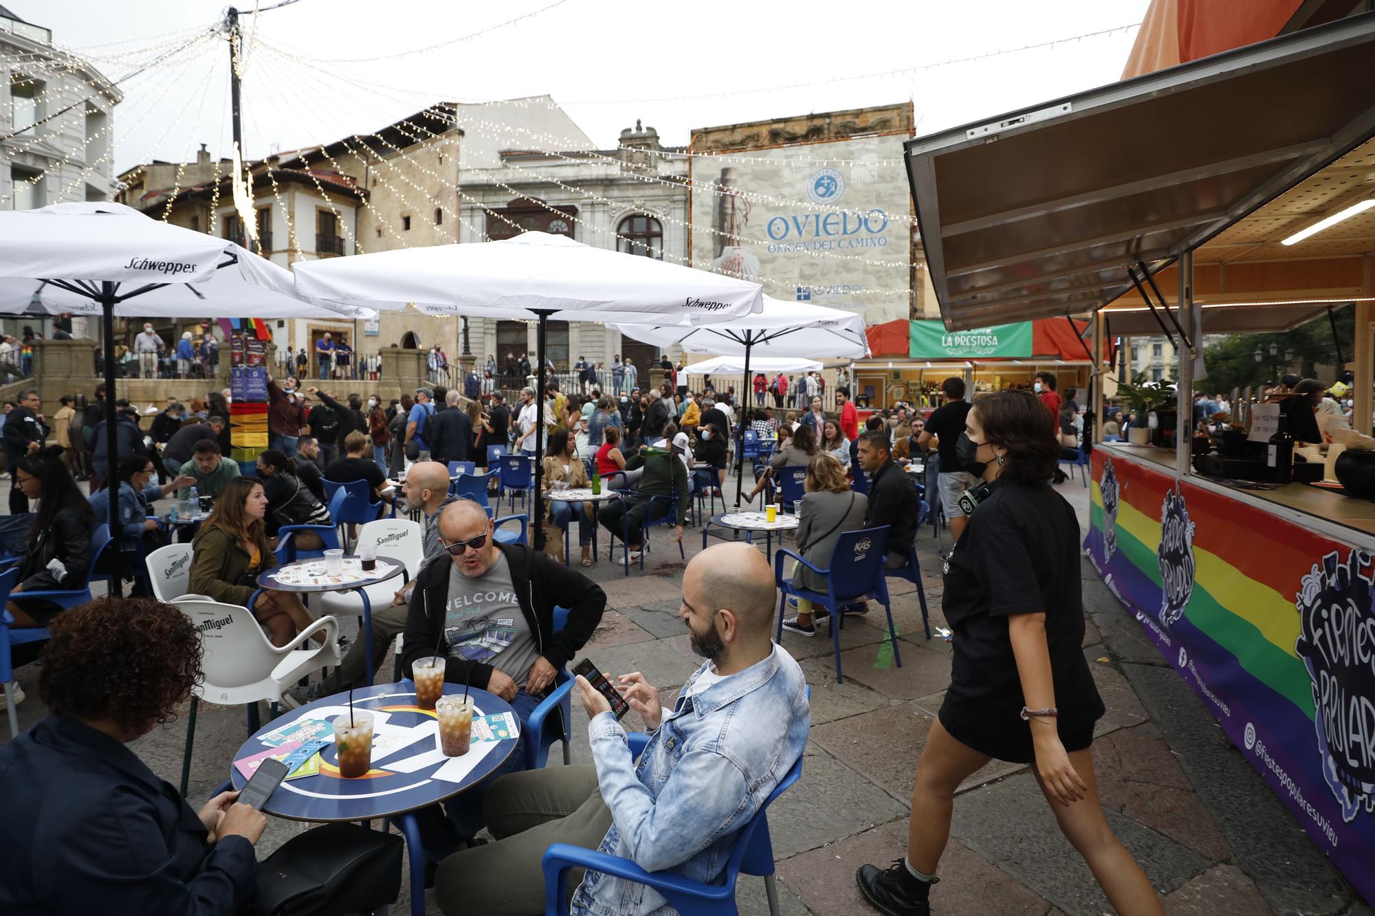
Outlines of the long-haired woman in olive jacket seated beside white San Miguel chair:
<svg viewBox="0 0 1375 916">
<path fill-rule="evenodd" d="M 276 565 L 276 556 L 267 542 L 265 514 L 267 495 L 261 480 L 235 477 L 226 484 L 210 517 L 191 542 L 191 594 L 248 607 L 257 590 L 258 574 Z M 272 645 L 286 645 L 314 623 L 300 598 L 275 589 L 265 589 L 252 611 L 254 619 L 267 627 Z M 323 641 L 323 637 L 318 640 Z"/>
</svg>

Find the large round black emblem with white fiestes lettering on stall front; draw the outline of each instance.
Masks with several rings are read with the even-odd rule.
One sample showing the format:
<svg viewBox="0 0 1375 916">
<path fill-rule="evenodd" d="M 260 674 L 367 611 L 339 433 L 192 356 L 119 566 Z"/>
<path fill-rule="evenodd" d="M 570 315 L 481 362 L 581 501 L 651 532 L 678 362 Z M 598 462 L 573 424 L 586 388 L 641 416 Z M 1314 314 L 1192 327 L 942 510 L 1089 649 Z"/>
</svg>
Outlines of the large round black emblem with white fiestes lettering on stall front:
<svg viewBox="0 0 1375 916">
<path fill-rule="evenodd" d="M 1313 682 L 1313 730 L 1323 780 L 1350 822 L 1375 813 L 1375 585 L 1371 554 L 1323 557 L 1304 576 L 1294 607 L 1294 651 Z"/>
</svg>

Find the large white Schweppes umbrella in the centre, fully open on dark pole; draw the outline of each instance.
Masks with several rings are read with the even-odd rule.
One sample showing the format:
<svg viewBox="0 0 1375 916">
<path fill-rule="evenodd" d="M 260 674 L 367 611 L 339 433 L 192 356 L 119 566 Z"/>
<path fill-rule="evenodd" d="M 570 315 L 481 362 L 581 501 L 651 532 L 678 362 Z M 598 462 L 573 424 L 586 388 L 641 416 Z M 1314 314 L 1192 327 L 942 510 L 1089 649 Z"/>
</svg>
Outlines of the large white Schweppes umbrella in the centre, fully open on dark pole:
<svg viewBox="0 0 1375 916">
<path fill-rule="evenodd" d="M 319 303 L 385 309 L 414 304 L 436 315 L 536 319 L 536 521 L 543 510 L 540 437 L 549 319 L 696 327 L 763 308 L 758 283 L 547 232 L 297 264 L 296 289 Z"/>
</svg>

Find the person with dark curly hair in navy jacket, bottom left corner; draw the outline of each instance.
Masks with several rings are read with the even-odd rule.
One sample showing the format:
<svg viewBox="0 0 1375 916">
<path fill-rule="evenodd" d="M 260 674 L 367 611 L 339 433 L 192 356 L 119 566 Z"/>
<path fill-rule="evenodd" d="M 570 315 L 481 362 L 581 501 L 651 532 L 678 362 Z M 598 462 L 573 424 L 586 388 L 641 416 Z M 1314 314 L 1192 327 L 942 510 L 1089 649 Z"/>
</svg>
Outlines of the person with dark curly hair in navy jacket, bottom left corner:
<svg viewBox="0 0 1375 916">
<path fill-rule="evenodd" d="M 98 598 L 51 630 L 38 675 L 51 715 L 0 747 L 0 912 L 239 912 L 257 897 L 267 818 L 238 792 L 192 810 L 126 747 L 172 721 L 201 677 L 190 618 Z"/>
</svg>

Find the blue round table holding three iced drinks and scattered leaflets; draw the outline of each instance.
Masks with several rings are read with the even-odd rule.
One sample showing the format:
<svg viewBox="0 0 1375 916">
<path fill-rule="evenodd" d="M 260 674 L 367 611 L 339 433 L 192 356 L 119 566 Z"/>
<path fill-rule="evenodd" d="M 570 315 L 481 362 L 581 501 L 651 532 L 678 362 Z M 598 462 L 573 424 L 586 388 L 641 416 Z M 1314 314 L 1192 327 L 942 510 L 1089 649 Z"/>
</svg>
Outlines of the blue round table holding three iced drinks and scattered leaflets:
<svg viewBox="0 0 1375 916">
<path fill-rule="evenodd" d="M 444 684 L 444 693 L 462 693 L 462 684 Z M 473 717 L 512 712 L 510 704 L 494 693 L 472 688 Z M 382 736 L 397 740 L 390 752 L 382 752 L 374 761 L 367 776 L 346 780 L 338 774 L 338 758 L 334 744 L 320 751 L 320 772 L 298 780 L 285 780 L 263 806 L 263 813 L 292 821 L 370 821 L 386 818 L 397 825 L 406 838 L 411 862 L 411 912 L 425 913 L 425 850 L 421 846 L 419 825 L 415 811 L 437 805 L 447 798 L 483 781 L 500 766 L 512 751 L 516 739 L 478 743 L 465 756 L 447 758 L 436 750 L 439 719 L 433 710 L 415 706 L 415 685 L 411 681 L 400 684 L 378 684 L 353 690 L 353 708 L 373 712 L 374 747 Z M 234 754 L 239 761 L 261 754 L 271 744 L 263 736 L 302 718 L 333 722 L 336 715 L 348 712 L 348 692 L 336 693 L 292 710 L 258 729 Z M 516 717 L 517 722 L 520 717 Z M 333 739 L 333 728 L 326 733 Z M 323 734 L 322 734 L 323 737 Z M 474 754 L 487 748 L 485 755 L 461 778 L 451 780 L 437 776 L 450 761 L 468 762 Z M 411 772 L 403 772 L 411 770 Z M 230 766 L 230 781 L 235 789 L 248 783 L 236 766 Z"/>
</svg>

